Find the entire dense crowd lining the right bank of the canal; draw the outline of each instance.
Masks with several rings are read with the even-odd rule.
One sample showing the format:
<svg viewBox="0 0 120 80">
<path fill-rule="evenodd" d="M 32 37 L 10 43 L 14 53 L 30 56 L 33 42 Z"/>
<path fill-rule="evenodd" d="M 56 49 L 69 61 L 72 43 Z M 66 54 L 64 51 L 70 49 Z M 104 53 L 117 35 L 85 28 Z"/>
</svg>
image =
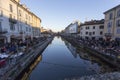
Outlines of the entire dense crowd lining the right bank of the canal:
<svg viewBox="0 0 120 80">
<path fill-rule="evenodd" d="M 75 36 L 65 36 L 72 39 L 79 45 L 83 45 L 99 51 L 103 54 L 110 55 L 112 57 L 120 57 L 120 40 L 105 40 L 105 39 L 90 39 L 90 38 L 80 38 Z"/>
</svg>

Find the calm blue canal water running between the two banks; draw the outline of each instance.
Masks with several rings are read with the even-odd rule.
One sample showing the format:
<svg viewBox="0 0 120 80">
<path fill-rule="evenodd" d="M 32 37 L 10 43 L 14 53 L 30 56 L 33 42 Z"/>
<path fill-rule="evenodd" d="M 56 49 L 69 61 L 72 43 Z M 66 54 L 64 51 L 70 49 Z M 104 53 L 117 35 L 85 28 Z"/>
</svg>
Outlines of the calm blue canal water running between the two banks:
<svg viewBox="0 0 120 80">
<path fill-rule="evenodd" d="M 99 58 L 55 37 L 32 69 L 28 80 L 64 80 L 114 71 Z"/>
</svg>

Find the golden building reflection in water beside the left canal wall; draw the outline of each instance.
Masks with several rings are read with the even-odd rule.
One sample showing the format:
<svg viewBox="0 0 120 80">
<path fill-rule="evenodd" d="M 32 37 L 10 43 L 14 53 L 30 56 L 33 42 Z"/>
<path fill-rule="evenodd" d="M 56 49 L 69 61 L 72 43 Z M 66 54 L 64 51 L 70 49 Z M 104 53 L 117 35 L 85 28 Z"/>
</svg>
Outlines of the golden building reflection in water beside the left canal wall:
<svg viewBox="0 0 120 80">
<path fill-rule="evenodd" d="M 38 65 L 38 63 L 42 60 L 42 55 L 40 55 L 24 72 L 23 76 L 21 77 L 21 80 L 28 80 L 29 75 L 33 71 L 33 69 Z"/>
</svg>

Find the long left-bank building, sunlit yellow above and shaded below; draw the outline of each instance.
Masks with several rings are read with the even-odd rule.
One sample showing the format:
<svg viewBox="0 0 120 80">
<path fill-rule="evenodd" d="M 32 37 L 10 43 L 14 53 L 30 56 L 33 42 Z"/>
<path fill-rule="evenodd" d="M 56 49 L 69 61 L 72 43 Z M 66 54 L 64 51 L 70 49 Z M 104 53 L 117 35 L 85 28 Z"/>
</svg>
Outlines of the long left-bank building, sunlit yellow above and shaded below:
<svg viewBox="0 0 120 80">
<path fill-rule="evenodd" d="M 40 36 L 41 19 L 20 0 L 0 0 L 0 41 L 32 39 Z"/>
</svg>

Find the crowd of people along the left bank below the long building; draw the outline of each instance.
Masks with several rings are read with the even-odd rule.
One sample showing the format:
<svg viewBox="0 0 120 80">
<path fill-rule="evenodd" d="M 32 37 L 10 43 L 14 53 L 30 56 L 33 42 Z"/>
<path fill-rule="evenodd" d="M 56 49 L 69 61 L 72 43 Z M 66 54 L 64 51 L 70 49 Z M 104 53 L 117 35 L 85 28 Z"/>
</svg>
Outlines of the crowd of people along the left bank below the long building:
<svg viewBox="0 0 120 80">
<path fill-rule="evenodd" d="M 46 37 L 33 38 L 33 40 L 26 39 L 25 41 L 15 39 L 11 41 L 11 43 L 5 43 L 4 45 L 0 46 L 0 54 L 15 54 L 18 52 L 26 52 L 33 45 L 36 45 L 45 39 Z"/>
</svg>

